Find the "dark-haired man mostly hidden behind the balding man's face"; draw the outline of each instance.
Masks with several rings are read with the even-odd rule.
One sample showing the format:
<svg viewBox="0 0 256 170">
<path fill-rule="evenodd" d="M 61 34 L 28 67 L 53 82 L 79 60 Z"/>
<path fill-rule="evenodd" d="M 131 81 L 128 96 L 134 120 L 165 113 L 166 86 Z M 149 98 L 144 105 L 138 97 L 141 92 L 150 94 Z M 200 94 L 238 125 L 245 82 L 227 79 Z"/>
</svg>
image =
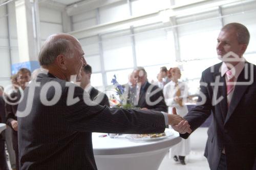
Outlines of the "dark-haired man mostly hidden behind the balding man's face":
<svg viewBox="0 0 256 170">
<path fill-rule="evenodd" d="M 108 96 L 106 96 L 105 93 L 100 92 L 99 90 L 97 90 L 91 85 L 91 75 L 92 75 L 92 67 L 89 64 L 87 64 L 86 66 L 82 66 L 82 72 L 81 72 L 82 79 L 81 79 L 80 87 L 89 93 L 92 101 L 96 102 L 101 106 L 104 106 L 104 105 L 110 106 Z"/>
</svg>

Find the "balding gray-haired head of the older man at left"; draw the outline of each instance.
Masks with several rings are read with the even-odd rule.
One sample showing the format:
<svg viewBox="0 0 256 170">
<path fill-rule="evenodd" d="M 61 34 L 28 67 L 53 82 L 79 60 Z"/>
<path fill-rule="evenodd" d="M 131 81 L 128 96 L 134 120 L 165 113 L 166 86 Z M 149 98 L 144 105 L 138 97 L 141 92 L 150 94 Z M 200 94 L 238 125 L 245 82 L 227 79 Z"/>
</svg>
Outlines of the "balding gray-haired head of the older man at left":
<svg viewBox="0 0 256 170">
<path fill-rule="evenodd" d="M 80 81 L 82 65 L 86 65 L 83 55 L 81 44 L 75 37 L 59 33 L 47 38 L 39 53 L 39 62 L 42 68 L 59 79 Z"/>
</svg>

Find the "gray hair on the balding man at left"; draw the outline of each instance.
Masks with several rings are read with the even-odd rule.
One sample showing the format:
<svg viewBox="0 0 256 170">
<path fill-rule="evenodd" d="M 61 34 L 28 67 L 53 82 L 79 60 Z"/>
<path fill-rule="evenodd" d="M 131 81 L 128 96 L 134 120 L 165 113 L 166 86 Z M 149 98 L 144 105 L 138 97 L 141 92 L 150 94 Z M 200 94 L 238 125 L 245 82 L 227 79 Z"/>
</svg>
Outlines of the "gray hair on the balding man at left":
<svg viewBox="0 0 256 170">
<path fill-rule="evenodd" d="M 74 45 L 70 39 L 55 34 L 48 37 L 42 46 L 39 53 L 39 63 L 40 65 L 50 65 L 60 54 L 72 58 L 74 56 Z"/>
</svg>

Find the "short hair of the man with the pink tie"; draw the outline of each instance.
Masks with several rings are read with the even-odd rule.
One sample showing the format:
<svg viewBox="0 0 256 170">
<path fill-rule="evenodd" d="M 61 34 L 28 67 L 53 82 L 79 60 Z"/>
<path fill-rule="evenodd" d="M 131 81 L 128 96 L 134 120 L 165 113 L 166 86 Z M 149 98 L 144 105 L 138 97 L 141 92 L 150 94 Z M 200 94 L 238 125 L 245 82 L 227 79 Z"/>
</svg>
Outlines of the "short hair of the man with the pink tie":
<svg viewBox="0 0 256 170">
<path fill-rule="evenodd" d="M 244 25 L 242 25 L 241 23 L 232 22 L 225 25 L 221 30 L 225 31 L 230 29 L 236 30 L 239 44 L 249 44 L 250 33 Z"/>
</svg>

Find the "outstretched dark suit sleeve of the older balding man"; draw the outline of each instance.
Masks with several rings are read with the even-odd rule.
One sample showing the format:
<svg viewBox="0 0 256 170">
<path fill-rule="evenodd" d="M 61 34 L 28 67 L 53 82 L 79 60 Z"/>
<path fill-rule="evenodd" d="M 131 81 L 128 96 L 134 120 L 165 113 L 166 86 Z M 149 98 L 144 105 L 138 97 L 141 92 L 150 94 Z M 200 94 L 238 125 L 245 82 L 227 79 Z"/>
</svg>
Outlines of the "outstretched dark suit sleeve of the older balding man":
<svg viewBox="0 0 256 170">
<path fill-rule="evenodd" d="M 67 106 L 65 102 L 62 104 L 63 109 L 65 108 L 62 114 L 67 125 L 74 131 L 161 133 L 165 130 L 164 116 L 159 112 L 100 106 L 89 100 L 90 96 L 88 93 L 83 94 L 81 88 L 75 88 L 74 94 L 74 98 L 80 99 L 79 102 L 70 106 Z"/>
</svg>

